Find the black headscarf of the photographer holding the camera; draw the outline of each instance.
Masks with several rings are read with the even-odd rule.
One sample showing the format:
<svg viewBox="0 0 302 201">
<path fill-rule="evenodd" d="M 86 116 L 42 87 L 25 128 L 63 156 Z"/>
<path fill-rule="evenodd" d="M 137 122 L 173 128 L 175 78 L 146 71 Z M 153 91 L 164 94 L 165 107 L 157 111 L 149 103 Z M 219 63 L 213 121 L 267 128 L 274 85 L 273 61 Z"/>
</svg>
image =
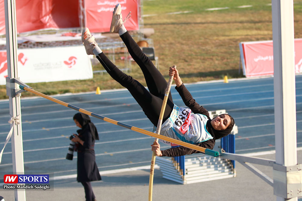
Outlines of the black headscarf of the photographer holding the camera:
<svg viewBox="0 0 302 201">
<path fill-rule="evenodd" d="M 88 115 L 79 112 L 73 116 L 73 119 L 76 119 L 79 122 L 79 124 L 82 126 L 82 131 L 89 130 L 92 138 L 99 140 L 98 131 Z"/>
</svg>

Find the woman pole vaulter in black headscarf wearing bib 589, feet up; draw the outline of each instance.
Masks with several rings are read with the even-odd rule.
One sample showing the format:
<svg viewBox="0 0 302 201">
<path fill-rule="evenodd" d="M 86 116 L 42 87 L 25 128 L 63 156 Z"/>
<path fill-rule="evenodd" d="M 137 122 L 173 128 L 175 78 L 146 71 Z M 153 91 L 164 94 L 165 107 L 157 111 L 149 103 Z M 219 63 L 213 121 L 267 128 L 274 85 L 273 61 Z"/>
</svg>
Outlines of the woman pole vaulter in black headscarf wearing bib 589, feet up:
<svg viewBox="0 0 302 201">
<path fill-rule="evenodd" d="M 137 43 L 124 27 L 124 23 L 130 17 L 122 20 L 120 4 L 117 4 L 113 11 L 110 32 L 119 33 L 125 43 L 128 52 L 134 61 L 140 66 L 145 77 L 149 91 L 133 77 L 120 71 L 101 51 L 95 38 L 90 34 L 88 28 L 82 32 L 82 42 L 88 55 L 96 55 L 108 74 L 127 88 L 133 98 L 143 109 L 147 118 L 154 126 L 157 126 L 162 101 L 165 96 L 167 81 L 156 69 L 152 61 L 142 52 Z M 209 112 L 199 105 L 191 96 L 179 77 L 176 68 L 169 68 L 169 76 L 174 76 L 175 89 L 182 97 L 183 102 L 189 108 L 178 107 L 173 103 L 171 93 L 165 107 L 160 134 L 176 140 L 195 144 L 207 149 L 213 149 L 215 140 L 228 135 L 234 126 L 234 119 L 228 114 L 219 115 L 210 119 Z M 180 156 L 192 153 L 199 153 L 193 149 L 183 146 L 160 150 L 158 143 L 151 145 L 157 156 Z"/>
</svg>

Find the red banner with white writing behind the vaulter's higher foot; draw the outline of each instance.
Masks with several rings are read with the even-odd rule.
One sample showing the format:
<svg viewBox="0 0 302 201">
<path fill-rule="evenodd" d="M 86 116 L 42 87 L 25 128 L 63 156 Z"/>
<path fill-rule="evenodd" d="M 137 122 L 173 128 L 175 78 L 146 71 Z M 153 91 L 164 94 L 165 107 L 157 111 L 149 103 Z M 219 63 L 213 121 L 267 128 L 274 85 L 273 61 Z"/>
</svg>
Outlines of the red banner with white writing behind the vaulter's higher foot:
<svg viewBox="0 0 302 201">
<path fill-rule="evenodd" d="M 86 27 L 90 32 L 109 32 L 112 12 L 118 3 L 121 5 L 123 20 L 131 11 L 131 17 L 124 24 L 127 30 L 138 30 L 139 0 L 86 0 Z"/>
</svg>

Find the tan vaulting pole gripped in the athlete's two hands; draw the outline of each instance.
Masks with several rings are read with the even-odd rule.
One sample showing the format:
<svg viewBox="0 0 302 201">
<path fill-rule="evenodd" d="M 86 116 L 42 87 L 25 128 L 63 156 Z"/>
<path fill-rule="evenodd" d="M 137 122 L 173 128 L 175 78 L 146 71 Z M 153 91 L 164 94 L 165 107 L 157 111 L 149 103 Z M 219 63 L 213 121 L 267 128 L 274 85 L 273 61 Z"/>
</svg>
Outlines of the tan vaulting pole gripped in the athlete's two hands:
<svg viewBox="0 0 302 201">
<path fill-rule="evenodd" d="M 172 67 L 176 68 L 175 65 L 173 65 Z M 167 85 L 167 88 L 166 88 L 166 93 L 165 93 L 165 96 L 164 96 L 164 100 L 162 102 L 162 109 L 160 110 L 159 119 L 158 119 L 158 123 L 157 123 L 157 127 L 156 127 L 156 134 L 160 133 L 160 129 L 162 127 L 162 119 L 164 117 L 165 107 L 166 107 L 166 104 L 167 104 L 167 100 L 168 100 L 169 92 L 170 92 L 170 89 L 171 89 L 173 77 L 174 76 L 170 76 L 169 82 L 168 82 L 168 85 Z M 154 142 L 158 142 L 158 138 L 155 138 Z M 149 201 L 152 201 L 155 157 L 156 157 L 155 152 L 152 152 L 151 167 L 150 167 L 150 177 L 149 177 Z"/>
</svg>

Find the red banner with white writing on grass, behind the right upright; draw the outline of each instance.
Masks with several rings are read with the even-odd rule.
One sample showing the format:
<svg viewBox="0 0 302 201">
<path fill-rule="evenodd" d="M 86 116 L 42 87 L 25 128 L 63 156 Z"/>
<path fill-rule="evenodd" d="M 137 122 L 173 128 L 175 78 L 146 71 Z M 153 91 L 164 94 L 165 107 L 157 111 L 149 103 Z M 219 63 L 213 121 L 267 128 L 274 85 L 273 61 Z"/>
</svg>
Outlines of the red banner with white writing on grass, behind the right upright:
<svg viewBox="0 0 302 201">
<path fill-rule="evenodd" d="M 241 42 L 240 57 L 243 74 L 246 77 L 258 77 L 274 74 L 273 42 Z M 295 72 L 302 73 L 302 39 L 294 40 Z"/>
</svg>

